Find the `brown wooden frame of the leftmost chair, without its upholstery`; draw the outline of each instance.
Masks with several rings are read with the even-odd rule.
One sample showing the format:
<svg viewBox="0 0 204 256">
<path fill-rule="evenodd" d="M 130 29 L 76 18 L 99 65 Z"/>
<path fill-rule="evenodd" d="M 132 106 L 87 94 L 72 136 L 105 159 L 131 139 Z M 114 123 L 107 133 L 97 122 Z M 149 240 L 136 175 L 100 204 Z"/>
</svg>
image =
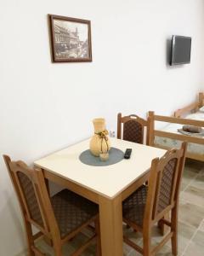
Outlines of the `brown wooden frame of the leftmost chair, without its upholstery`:
<svg viewBox="0 0 204 256">
<path fill-rule="evenodd" d="M 26 228 L 26 239 L 28 245 L 28 254 L 30 256 L 42 256 L 45 255 L 37 249 L 35 246 L 35 241 L 40 236 L 44 236 L 50 241 L 50 245 L 54 247 L 54 254 L 56 256 L 62 255 L 62 245 L 71 240 L 74 236 L 76 236 L 82 229 L 88 228 L 91 229 L 91 224 L 94 222 L 95 229 L 94 236 L 88 239 L 86 243 L 79 247 L 76 252 L 72 253 L 71 256 L 80 255 L 95 239 L 97 239 L 97 249 L 96 255 L 101 255 L 100 251 L 100 236 L 99 236 L 99 214 L 97 214 L 94 218 L 89 219 L 85 224 L 82 224 L 81 227 L 77 228 L 77 230 L 72 231 L 67 236 L 61 238 L 59 232 L 59 226 L 57 224 L 56 218 L 54 216 L 53 207 L 51 205 L 51 201 L 48 195 L 48 189 L 45 183 L 45 179 L 40 169 L 31 169 L 23 161 L 11 161 L 8 155 L 3 155 L 3 159 L 8 168 L 9 176 L 14 185 L 14 190 L 17 194 L 18 200 L 20 202 L 20 209 L 22 212 L 25 228 Z M 31 218 L 31 214 L 29 208 L 27 207 L 26 197 L 24 195 L 24 191 L 20 185 L 20 180 L 17 175 L 17 172 L 21 172 L 28 177 L 32 183 L 33 189 L 35 191 L 35 195 L 37 198 L 37 204 L 42 216 L 43 225 L 37 224 L 37 222 Z M 37 230 L 40 230 L 36 235 L 32 234 L 31 225 L 34 225 Z"/>
</svg>

